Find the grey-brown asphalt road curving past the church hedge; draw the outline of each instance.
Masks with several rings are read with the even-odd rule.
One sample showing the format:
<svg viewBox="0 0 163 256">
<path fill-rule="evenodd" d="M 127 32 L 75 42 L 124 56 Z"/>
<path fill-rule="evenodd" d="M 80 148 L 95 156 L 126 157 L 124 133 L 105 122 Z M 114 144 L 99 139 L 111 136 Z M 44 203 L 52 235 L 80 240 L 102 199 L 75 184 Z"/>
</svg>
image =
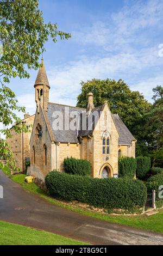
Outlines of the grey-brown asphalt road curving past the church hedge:
<svg viewBox="0 0 163 256">
<path fill-rule="evenodd" d="M 163 245 L 163 235 L 77 214 L 26 192 L 0 170 L 0 220 L 50 231 L 93 245 Z M 1 227 L 0 227 L 1 231 Z"/>
</svg>

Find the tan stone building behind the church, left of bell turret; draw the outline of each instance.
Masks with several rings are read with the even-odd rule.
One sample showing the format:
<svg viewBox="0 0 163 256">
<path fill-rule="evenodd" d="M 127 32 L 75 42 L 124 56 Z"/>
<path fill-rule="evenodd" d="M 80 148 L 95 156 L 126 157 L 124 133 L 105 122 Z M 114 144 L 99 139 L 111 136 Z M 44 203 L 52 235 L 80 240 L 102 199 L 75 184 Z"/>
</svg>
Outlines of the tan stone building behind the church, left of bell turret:
<svg viewBox="0 0 163 256">
<path fill-rule="evenodd" d="M 22 123 L 27 126 L 29 132 L 16 133 L 14 128 L 11 128 L 11 138 L 7 139 L 10 145 L 14 159 L 16 161 L 16 166 L 21 169 L 22 172 L 26 169 L 25 160 L 30 159 L 30 136 L 32 132 L 32 126 L 34 123 L 35 115 L 24 114 Z"/>
</svg>

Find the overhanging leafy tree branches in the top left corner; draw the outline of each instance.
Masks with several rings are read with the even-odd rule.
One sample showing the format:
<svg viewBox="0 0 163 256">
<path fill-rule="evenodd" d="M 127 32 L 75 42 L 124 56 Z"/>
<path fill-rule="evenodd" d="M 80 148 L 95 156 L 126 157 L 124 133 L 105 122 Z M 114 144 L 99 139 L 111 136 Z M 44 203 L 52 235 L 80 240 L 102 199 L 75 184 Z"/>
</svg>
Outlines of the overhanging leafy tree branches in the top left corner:
<svg viewBox="0 0 163 256">
<path fill-rule="evenodd" d="M 3 81 L 10 77 L 29 77 L 26 70 L 38 69 L 39 56 L 45 51 L 49 37 L 54 42 L 70 38 L 70 34 L 58 31 L 57 24 L 45 23 L 39 10 L 39 0 L 2 0 L 0 4 L 0 42 L 3 52 L 0 70 Z M 25 66 L 26 65 L 26 66 Z"/>
</svg>

